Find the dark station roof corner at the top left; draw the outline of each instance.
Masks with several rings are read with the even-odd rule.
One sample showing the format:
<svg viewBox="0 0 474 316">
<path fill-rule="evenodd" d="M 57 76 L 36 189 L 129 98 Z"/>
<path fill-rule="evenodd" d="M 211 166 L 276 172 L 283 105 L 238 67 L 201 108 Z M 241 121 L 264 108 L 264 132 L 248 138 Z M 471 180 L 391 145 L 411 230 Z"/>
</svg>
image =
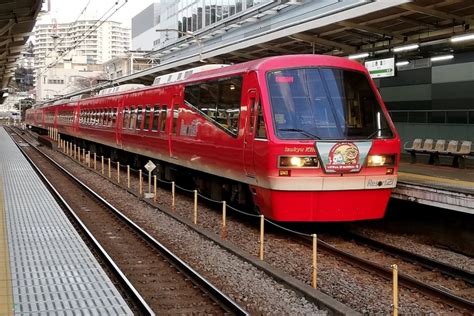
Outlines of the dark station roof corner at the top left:
<svg viewBox="0 0 474 316">
<path fill-rule="evenodd" d="M 0 90 L 13 76 L 42 0 L 0 0 Z"/>
</svg>

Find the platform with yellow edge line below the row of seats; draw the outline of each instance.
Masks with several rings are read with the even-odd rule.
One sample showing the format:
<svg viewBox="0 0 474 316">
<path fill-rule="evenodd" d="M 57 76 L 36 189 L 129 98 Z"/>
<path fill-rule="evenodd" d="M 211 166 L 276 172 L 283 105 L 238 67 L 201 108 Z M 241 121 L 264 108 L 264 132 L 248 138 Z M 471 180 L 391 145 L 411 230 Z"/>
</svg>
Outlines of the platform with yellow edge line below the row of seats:
<svg viewBox="0 0 474 316">
<path fill-rule="evenodd" d="M 474 214 L 474 169 L 402 161 L 392 197 Z"/>
</svg>

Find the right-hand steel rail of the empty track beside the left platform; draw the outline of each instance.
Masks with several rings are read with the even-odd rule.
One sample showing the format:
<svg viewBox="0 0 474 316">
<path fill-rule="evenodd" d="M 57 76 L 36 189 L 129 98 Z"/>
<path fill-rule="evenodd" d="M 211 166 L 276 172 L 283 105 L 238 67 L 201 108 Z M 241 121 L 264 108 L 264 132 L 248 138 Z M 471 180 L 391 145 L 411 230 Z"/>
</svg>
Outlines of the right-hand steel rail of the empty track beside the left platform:
<svg viewBox="0 0 474 316">
<path fill-rule="evenodd" d="M 21 137 L 21 135 L 19 136 Z M 26 142 L 28 143 L 28 141 Z M 231 298 L 229 298 L 226 294 L 224 294 L 222 291 L 216 288 L 213 284 L 211 284 L 208 280 L 206 280 L 203 276 L 201 276 L 197 271 L 195 271 L 192 267 L 190 267 L 186 262 L 184 262 L 177 255 L 175 255 L 173 252 L 167 249 L 159 241 L 157 241 L 153 236 L 151 236 L 145 230 L 140 228 L 136 223 L 134 223 L 131 219 L 129 219 L 125 214 L 120 212 L 117 208 L 115 208 L 102 196 L 100 196 L 94 190 L 89 188 L 85 183 L 83 183 L 77 177 L 72 175 L 69 171 L 67 171 L 65 168 L 59 165 L 52 158 L 48 157 L 45 153 L 40 151 L 38 148 L 34 146 L 31 146 L 31 147 L 34 148 L 36 151 L 38 151 L 46 159 L 48 159 L 53 165 L 55 165 L 59 170 L 61 170 L 63 173 L 69 176 L 72 180 L 74 180 L 78 185 L 80 185 L 89 194 L 94 196 L 105 207 L 107 207 L 111 212 L 113 212 L 117 217 L 119 217 L 126 225 L 131 227 L 140 237 L 142 237 L 145 241 L 147 241 L 150 246 L 152 246 L 156 251 L 163 254 L 170 262 L 172 262 L 173 265 L 178 270 L 186 274 L 194 282 L 194 284 L 199 286 L 201 289 L 203 289 L 203 291 L 205 291 L 207 294 L 213 297 L 216 303 L 218 303 L 226 311 L 235 315 L 248 315 L 248 313 L 242 307 L 240 307 L 237 303 L 235 303 Z"/>
</svg>

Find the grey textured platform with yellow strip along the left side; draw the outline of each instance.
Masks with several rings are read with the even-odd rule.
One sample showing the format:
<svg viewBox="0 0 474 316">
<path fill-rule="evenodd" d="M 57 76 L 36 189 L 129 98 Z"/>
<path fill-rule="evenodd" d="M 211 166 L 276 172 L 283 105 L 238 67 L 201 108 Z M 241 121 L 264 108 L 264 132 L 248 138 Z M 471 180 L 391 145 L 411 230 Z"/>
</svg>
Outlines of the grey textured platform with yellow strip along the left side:
<svg viewBox="0 0 474 316">
<path fill-rule="evenodd" d="M 0 127 L 0 315 L 133 315 Z"/>
</svg>

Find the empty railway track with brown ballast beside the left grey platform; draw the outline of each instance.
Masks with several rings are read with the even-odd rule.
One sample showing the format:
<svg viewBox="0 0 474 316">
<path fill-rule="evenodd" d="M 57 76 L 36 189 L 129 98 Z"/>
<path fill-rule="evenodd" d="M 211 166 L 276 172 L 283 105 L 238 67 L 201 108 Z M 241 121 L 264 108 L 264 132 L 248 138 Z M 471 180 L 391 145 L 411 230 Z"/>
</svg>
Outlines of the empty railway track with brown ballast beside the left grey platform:
<svg viewBox="0 0 474 316">
<path fill-rule="evenodd" d="M 21 137 L 16 135 L 14 138 Z M 104 262 L 132 298 L 139 314 L 247 314 L 42 151 L 25 139 L 18 146 L 74 218 L 76 226 L 107 259 Z"/>
</svg>

